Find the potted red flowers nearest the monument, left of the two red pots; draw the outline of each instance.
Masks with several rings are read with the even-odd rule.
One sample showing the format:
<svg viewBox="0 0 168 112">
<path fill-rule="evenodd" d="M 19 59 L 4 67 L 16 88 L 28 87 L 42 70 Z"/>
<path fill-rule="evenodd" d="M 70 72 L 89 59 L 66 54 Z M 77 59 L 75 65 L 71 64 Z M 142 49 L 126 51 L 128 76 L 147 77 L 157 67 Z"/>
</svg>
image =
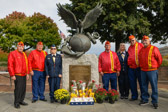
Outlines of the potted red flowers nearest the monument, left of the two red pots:
<svg viewBox="0 0 168 112">
<path fill-rule="evenodd" d="M 107 91 L 103 88 L 99 88 L 95 92 L 95 98 L 97 103 L 103 103 L 103 100 L 107 96 Z"/>
</svg>

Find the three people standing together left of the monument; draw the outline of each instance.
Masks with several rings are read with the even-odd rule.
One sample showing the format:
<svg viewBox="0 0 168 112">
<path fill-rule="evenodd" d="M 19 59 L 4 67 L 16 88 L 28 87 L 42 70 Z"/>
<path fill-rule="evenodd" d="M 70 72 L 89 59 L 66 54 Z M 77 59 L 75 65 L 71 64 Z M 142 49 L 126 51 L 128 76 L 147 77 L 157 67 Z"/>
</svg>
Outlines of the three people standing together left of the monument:
<svg viewBox="0 0 168 112">
<path fill-rule="evenodd" d="M 24 98 L 29 74 L 32 76 L 32 103 L 38 100 L 47 101 L 44 96 L 46 77 L 50 87 L 50 101 L 54 103 L 54 91 L 59 89 L 62 77 L 62 57 L 57 54 L 56 46 L 52 45 L 51 54 L 47 54 L 43 51 L 43 43 L 38 42 L 28 58 L 23 50 L 24 43 L 19 42 L 17 50 L 10 52 L 8 56 L 8 71 L 15 83 L 14 107 L 28 105 Z"/>
</svg>

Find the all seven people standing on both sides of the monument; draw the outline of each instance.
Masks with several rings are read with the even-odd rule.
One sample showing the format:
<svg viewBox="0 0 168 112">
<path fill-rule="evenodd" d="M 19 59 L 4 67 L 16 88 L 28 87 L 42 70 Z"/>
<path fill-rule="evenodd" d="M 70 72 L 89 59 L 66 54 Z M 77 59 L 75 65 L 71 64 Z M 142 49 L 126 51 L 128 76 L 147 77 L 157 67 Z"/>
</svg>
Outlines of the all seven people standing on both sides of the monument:
<svg viewBox="0 0 168 112">
<path fill-rule="evenodd" d="M 162 56 L 157 47 L 151 45 L 148 36 L 143 36 L 142 43 L 138 43 L 133 35 L 129 36 L 130 47 L 128 52 L 124 43 L 120 44 L 117 53 L 111 51 L 109 41 L 105 43 L 105 51 L 99 56 L 99 73 L 102 76 L 103 88 L 117 90 L 117 79 L 121 99 L 128 99 L 131 89 L 130 101 L 138 99 L 137 80 L 141 93 L 140 105 L 148 104 L 148 84 L 152 88 L 152 104 L 158 107 L 158 67 L 162 63 Z M 32 103 L 38 100 L 47 101 L 44 96 L 46 78 L 49 82 L 50 102 L 54 103 L 54 91 L 60 88 L 62 77 L 62 57 L 57 53 L 55 45 L 51 46 L 50 53 L 43 51 L 43 43 L 38 42 L 36 49 L 31 51 L 28 58 L 23 52 L 24 43 L 17 44 L 17 50 L 8 56 L 8 71 L 14 80 L 14 107 L 28 105 L 24 102 L 26 93 L 26 79 L 32 76 Z"/>
</svg>

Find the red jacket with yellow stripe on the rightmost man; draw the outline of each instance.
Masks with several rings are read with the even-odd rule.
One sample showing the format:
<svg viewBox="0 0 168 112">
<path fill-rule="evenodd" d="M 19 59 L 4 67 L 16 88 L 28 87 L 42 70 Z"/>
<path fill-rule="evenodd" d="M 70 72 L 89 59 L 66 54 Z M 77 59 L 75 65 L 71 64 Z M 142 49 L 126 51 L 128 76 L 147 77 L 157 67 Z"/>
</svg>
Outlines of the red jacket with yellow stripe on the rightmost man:
<svg viewBox="0 0 168 112">
<path fill-rule="evenodd" d="M 162 64 L 162 56 L 159 49 L 152 45 L 146 48 L 143 47 L 139 53 L 139 62 L 142 71 L 157 70 Z"/>
</svg>

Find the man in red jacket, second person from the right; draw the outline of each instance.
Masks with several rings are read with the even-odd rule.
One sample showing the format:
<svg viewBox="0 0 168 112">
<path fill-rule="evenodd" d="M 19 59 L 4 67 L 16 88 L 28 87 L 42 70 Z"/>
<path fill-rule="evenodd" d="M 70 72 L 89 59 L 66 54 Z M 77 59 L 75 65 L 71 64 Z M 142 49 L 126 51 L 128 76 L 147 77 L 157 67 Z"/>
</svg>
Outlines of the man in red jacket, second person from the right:
<svg viewBox="0 0 168 112">
<path fill-rule="evenodd" d="M 139 51 L 143 47 L 143 44 L 138 43 L 133 35 L 129 36 L 129 41 L 131 45 L 128 48 L 128 77 L 132 93 L 130 101 L 134 101 L 138 99 L 137 79 L 142 95 L 141 70 L 139 67 L 138 55 Z"/>
</svg>

